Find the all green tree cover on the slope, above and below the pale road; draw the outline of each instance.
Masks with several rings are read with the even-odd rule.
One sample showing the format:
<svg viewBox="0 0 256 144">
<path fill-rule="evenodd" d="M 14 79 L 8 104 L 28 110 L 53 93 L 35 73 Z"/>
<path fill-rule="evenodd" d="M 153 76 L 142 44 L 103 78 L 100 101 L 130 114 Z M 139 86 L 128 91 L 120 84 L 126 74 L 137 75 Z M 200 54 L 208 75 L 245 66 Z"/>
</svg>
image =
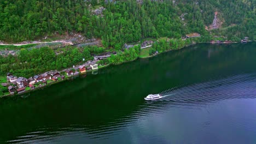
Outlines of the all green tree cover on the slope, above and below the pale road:
<svg viewBox="0 0 256 144">
<path fill-rule="evenodd" d="M 222 27 L 209 31 L 206 26 L 213 22 L 215 11 Z M 106 51 L 117 51 L 118 55 L 100 63 L 132 61 L 138 58 L 140 47 L 124 50 L 124 44 L 142 43 L 144 39 L 166 38 L 154 43 L 150 54 L 216 37 L 255 40 L 255 21 L 254 0 L 0 0 L 0 41 L 16 43 L 72 33 L 102 40 L 102 47 L 65 47 L 60 51 L 22 47 L 18 56 L 0 56 L 0 74 L 33 76 L 71 67 L 82 58 L 91 59 L 92 55 Z M 182 40 L 185 34 L 194 32 L 202 37 Z"/>
</svg>

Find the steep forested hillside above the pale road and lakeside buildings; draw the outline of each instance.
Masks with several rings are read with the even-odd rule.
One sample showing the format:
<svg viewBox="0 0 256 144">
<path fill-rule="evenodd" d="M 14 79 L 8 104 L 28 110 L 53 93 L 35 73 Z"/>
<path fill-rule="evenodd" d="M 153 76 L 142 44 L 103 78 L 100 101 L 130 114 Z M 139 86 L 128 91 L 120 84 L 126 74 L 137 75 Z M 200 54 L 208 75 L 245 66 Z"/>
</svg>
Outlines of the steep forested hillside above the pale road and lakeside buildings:
<svg viewBox="0 0 256 144">
<path fill-rule="evenodd" d="M 101 10 L 97 11 L 99 8 Z M 222 28 L 206 31 L 218 11 Z M 226 28 L 225 28 L 226 27 Z M 0 40 L 19 42 L 45 35 L 80 33 L 121 49 L 142 38 L 181 38 L 197 32 L 231 40 L 255 37 L 255 1 L 0 1 Z"/>
</svg>

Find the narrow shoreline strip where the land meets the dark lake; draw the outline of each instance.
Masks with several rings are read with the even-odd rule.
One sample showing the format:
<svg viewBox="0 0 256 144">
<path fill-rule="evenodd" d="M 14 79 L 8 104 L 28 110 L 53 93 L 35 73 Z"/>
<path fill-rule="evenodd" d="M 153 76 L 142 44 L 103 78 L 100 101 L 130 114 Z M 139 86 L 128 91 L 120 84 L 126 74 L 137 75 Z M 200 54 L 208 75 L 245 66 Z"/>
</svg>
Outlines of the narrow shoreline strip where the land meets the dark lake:
<svg viewBox="0 0 256 144">
<path fill-rule="evenodd" d="M 220 43 L 220 44 L 236 44 L 236 43 L 238 43 L 238 42 Z M 189 44 L 189 45 L 185 45 L 185 46 L 183 46 L 183 47 L 180 47 L 179 49 L 176 49 L 176 50 L 170 49 L 170 50 L 167 50 L 167 51 L 164 51 L 164 52 L 156 53 L 155 55 L 151 55 L 151 56 L 148 56 L 148 57 L 138 57 L 138 58 L 136 58 L 136 59 L 139 59 L 139 58 L 144 59 L 144 58 L 154 57 L 154 56 L 157 56 L 157 55 L 159 55 L 159 54 L 161 54 L 161 53 L 165 53 L 165 52 L 169 52 L 169 51 L 181 50 L 181 49 L 183 49 L 184 47 L 188 47 L 188 46 L 195 45 L 195 44 L 212 44 L 212 43 L 210 43 L 210 42 L 204 42 L 204 43 Z M 214 44 L 218 44 L 218 43 L 214 43 Z M 134 59 L 133 61 L 135 61 L 136 59 Z M 131 61 L 127 61 L 127 62 L 131 62 Z M 126 63 L 126 62 L 123 62 L 123 63 Z M 120 63 L 120 64 L 123 64 L 123 63 Z M 108 67 L 109 65 L 111 65 L 111 64 L 102 65 L 101 67 L 98 67 L 98 69 L 106 68 L 106 67 Z M 117 65 L 119 65 L 119 64 L 117 64 Z M 5 98 L 5 97 L 8 97 L 8 96 L 9 96 L 9 97 L 14 97 L 14 96 L 16 96 L 16 95 L 22 95 L 22 94 L 26 94 L 26 93 L 28 93 L 28 92 L 33 92 L 33 91 L 36 91 L 37 89 L 42 89 L 42 88 L 45 88 L 45 87 L 54 85 L 54 84 L 59 83 L 59 82 L 63 82 L 63 81 L 66 81 L 66 80 L 70 80 L 70 79 L 74 78 L 75 76 L 90 74 L 90 73 L 92 73 L 93 71 L 97 71 L 98 69 L 95 69 L 95 70 L 88 70 L 88 71 L 86 71 L 85 73 L 78 74 L 78 75 L 72 75 L 72 76 L 67 77 L 67 78 L 65 78 L 65 79 L 63 79 L 63 80 L 58 80 L 58 81 L 55 81 L 55 82 L 51 82 L 51 83 L 49 83 L 49 84 L 40 86 L 39 88 L 29 89 L 29 90 L 27 90 L 27 91 L 25 91 L 25 92 L 22 92 L 22 93 L 2 95 L 2 96 L 0 96 L 0 98 Z"/>
</svg>

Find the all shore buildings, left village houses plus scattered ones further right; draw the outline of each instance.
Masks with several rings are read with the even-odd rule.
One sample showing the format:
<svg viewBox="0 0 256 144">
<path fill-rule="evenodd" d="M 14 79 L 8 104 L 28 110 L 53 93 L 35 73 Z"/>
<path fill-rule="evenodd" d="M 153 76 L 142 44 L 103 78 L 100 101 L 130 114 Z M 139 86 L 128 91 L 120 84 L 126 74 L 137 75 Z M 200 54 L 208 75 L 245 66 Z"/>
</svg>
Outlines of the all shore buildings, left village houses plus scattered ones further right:
<svg viewBox="0 0 256 144">
<path fill-rule="evenodd" d="M 201 37 L 201 35 L 199 33 L 186 34 L 183 40 L 188 38 L 196 38 L 196 37 Z M 248 40 L 248 37 L 241 40 L 241 43 L 247 43 L 247 40 Z M 153 43 L 154 43 L 153 41 L 146 40 L 141 44 L 141 49 L 151 47 Z M 232 41 L 212 40 L 210 41 L 210 43 L 225 44 L 225 43 L 232 43 Z M 134 45 L 125 44 L 126 49 L 129 49 L 132 46 Z M 116 52 L 112 54 L 117 55 Z M 154 53 L 154 55 L 156 54 L 158 54 L 158 51 Z M 87 61 L 86 63 L 82 65 L 77 65 L 77 66 L 73 65 L 73 68 L 64 69 L 62 71 L 51 70 L 43 74 L 34 75 L 33 77 L 30 77 L 28 79 L 25 77 L 18 77 L 18 76 L 14 76 L 11 73 L 7 73 L 7 83 L 2 83 L 2 86 L 8 87 L 9 94 L 5 93 L 4 96 L 20 94 L 27 91 L 31 91 L 36 88 L 44 87 L 51 83 L 56 83 L 57 81 L 62 81 L 64 79 L 67 79 L 68 77 L 76 76 L 79 74 L 85 74 L 86 70 L 87 71 L 97 70 L 98 64 L 96 64 L 96 62 L 102 59 L 106 59 L 107 57 L 110 57 L 109 53 L 107 53 L 106 55 L 95 56 L 94 61 Z M 97 74 L 97 71 L 96 73 L 92 71 L 92 74 Z"/>
</svg>

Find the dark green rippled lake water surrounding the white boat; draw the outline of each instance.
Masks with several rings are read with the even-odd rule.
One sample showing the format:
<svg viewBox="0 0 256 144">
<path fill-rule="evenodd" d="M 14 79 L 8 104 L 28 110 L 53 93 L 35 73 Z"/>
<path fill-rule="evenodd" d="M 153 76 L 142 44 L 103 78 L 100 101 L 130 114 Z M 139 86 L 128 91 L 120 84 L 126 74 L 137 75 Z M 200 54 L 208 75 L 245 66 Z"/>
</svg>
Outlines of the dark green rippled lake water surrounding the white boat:
<svg viewBox="0 0 256 144">
<path fill-rule="evenodd" d="M 256 143 L 255 106 L 256 43 L 197 44 L 0 99 L 0 143 Z"/>
</svg>

